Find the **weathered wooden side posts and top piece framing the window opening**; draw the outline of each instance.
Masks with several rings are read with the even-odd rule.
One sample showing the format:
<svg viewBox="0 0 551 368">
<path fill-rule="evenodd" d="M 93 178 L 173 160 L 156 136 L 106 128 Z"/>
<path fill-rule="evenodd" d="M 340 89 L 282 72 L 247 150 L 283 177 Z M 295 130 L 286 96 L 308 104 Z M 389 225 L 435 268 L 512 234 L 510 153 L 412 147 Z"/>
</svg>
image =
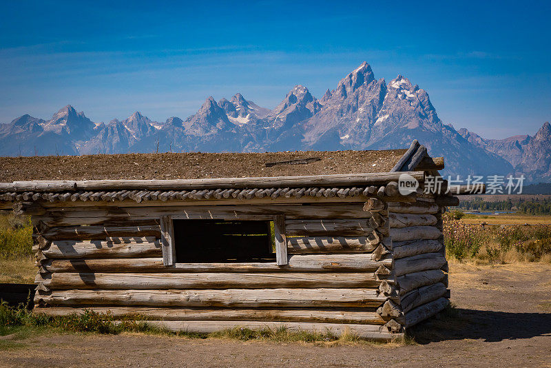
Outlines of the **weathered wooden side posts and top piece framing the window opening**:
<svg viewBox="0 0 551 368">
<path fill-rule="evenodd" d="M 240 221 L 273 221 L 275 234 L 275 263 L 278 266 L 287 265 L 287 236 L 285 236 L 285 216 L 278 215 L 238 215 L 224 216 L 209 212 L 208 216 L 190 217 L 187 215 L 171 215 L 160 217 L 160 243 L 163 247 L 163 265 L 176 265 L 176 243 L 174 241 L 174 220 L 240 220 Z"/>
</svg>

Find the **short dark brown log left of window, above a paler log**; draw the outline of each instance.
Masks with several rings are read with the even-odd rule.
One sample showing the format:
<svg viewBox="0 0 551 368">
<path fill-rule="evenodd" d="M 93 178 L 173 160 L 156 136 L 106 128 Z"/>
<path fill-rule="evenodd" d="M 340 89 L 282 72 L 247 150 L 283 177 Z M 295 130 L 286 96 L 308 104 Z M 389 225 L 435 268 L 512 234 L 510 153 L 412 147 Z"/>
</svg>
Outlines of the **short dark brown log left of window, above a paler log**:
<svg viewBox="0 0 551 368">
<path fill-rule="evenodd" d="M 71 226 L 54 227 L 41 234 L 49 240 L 99 240 L 118 236 L 154 236 L 160 238 L 159 225 L 143 226 Z"/>
</svg>

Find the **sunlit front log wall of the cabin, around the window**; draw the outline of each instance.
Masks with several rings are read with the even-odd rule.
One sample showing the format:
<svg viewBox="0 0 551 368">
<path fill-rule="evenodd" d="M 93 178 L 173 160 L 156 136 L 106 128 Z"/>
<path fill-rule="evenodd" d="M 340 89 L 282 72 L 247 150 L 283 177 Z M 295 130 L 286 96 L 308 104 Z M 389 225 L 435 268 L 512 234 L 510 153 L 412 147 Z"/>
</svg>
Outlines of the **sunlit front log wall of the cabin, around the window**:
<svg viewBox="0 0 551 368">
<path fill-rule="evenodd" d="M 367 209 L 359 201 L 46 206 L 33 218 L 39 267 L 35 311 L 109 310 L 117 317 L 141 314 L 168 328 L 196 331 L 284 322 L 295 329 L 392 338 L 402 332 L 403 315 L 379 311 L 385 303 L 399 303 L 391 224 L 423 227 L 437 220 L 424 213 L 389 218 L 383 201 L 370 203 Z M 280 215 L 287 265 L 163 265 L 160 216 L 266 220 Z"/>
</svg>

